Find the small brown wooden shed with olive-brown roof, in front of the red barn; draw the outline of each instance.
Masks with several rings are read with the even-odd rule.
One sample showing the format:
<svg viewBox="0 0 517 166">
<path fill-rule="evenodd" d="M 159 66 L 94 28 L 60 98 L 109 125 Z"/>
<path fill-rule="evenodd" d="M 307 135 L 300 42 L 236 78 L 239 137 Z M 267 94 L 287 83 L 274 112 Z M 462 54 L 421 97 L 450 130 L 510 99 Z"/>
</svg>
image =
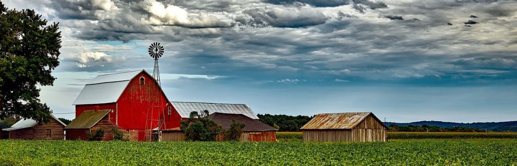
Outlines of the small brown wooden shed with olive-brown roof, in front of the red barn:
<svg viewBox="0 0 517 166">
<path fill-rule="evenodd" d="M 87 131 L 96 132 L 102 128 L 104 130 L 103 141 L 113 140 L 112 129 L 117 129 L 125 135 L 129 132 L 121 129 L 110 120 L 111 110 L 84 111 L 77 118 L 73 119 L 65 127 L 67 140 L 88 140 Z"/>
</svg>

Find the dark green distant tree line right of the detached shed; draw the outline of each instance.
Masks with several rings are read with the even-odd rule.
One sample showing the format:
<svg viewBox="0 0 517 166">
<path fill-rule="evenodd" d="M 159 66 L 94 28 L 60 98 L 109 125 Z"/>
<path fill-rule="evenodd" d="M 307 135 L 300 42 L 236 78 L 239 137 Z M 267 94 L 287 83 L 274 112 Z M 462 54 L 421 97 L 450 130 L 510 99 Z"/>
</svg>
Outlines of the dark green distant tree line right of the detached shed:
<svg viewBox="0 0 517 166">
<path fill-rule="evenodd" d="M 429 129 L 429 132 L 485 132 L 484 129 L 477 129 L 472 127 L 439 127 L 439 126 L 428 126 L 428 125 L 407 125 L 407 126 L 397 126 L 390 125 L 389 131 L 413 131 L 413 132 L 426 132 Z"/>
</svg>

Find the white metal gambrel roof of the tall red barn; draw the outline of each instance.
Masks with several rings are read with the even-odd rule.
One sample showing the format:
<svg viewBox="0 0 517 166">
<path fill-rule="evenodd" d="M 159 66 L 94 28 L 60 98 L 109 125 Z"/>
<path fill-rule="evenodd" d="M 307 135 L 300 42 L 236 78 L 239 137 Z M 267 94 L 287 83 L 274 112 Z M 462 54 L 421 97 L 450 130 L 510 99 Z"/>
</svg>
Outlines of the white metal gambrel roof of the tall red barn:
<svg viewBox="0 0 517 166">
<path fill-rule="evenodd" d="M 142 71 L 147 72 L 136 70 L 97 76 L 84 86 L 72 105 L 116 102 L 126 89 L 129 81 Z"/>
</svg>

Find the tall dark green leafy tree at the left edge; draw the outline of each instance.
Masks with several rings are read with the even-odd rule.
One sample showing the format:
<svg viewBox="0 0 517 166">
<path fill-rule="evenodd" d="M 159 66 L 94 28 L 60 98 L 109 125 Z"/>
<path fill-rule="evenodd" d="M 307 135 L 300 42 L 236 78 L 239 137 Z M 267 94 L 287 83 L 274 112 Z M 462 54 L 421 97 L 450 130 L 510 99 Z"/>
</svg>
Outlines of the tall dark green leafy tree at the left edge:
<svg viewBox="0 0 517 166">
<path fill-rule="evenodd" d="M 0 118 L 19 116 L 49 122 L 50 108 L 38 86 L 53 85 L 61 32 L 34 10 L 7 9 L 0 2 Z"/>
</svg>

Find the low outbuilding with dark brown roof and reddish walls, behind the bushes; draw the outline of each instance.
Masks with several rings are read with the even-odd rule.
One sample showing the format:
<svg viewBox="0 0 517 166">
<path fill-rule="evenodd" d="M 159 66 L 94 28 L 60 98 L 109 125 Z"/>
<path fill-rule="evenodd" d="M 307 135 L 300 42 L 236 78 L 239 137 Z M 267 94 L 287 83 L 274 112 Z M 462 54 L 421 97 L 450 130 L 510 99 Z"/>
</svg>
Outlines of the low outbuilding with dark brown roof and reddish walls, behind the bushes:
<svg viewBox="0 0 517 166">
<path fill-rule="evenodd" d="M 221 125 L 223 129 L 229 129 L 232 120 L 244 124 L 239 140 L 241 142 L 273 142 L 277 140 L 278 129 L 243 114 L 215 112 L 208 115 L 208 118 Z M 217 135 L 217 141 L 223 141 L 221 134 Z"/>
</svg>

